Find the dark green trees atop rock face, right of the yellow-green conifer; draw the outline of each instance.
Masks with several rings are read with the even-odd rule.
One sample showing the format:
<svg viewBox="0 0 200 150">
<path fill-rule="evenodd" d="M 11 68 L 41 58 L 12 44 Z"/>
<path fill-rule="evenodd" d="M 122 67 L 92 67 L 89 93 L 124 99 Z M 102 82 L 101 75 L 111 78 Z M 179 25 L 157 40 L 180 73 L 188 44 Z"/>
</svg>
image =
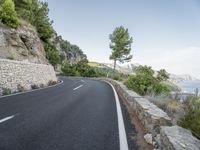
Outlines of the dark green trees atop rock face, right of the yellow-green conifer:
<svg viewBox="0 0 200 150">
<path fill-rule="evenodd" d="M 44 42 L 53 36 L 52 21 L 48 17 L 48 3 L 38 0 L 15 0 L 17 14 L 36 27 Z"/>
</svg>

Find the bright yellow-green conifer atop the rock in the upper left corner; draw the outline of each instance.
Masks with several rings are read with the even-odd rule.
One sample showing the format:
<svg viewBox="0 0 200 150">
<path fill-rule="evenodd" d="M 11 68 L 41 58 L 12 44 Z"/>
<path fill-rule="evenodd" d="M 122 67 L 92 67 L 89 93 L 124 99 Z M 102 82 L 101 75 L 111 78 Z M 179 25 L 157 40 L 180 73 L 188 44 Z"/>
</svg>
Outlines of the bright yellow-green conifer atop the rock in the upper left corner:
<svg viewBox="0 0 200 150">
<path fill-rule="evenodd" d="M 1 8 L 0 21 L 11 28 L 19 26 L 19 20 L 12 0 L 4 0 Z"/>
</svg>

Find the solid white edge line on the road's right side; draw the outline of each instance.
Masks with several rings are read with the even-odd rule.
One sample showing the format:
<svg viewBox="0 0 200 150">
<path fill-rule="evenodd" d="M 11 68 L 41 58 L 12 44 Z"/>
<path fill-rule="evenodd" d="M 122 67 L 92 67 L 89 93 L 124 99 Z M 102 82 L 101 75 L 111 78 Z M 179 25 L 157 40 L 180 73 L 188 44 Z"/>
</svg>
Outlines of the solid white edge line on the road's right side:
<svg viewBox="0 0 200 150">
<path fill-rule="evenodd" d="M 125 131 L 125 127 L 124 127 L 124 119 L 122 116 L 122 109 L 121 109 L 121 105 L 119 102 L 119 97 L 118 97 L 117 92 L 115 91 L 115 88 L 113 87 L 113 85 L 109 82 L 107 82 L 107 83 L 112 87 L 114 95 L 115 95 L 115 100 L 116 100 L 120 150 L 128 150 L 126 131 Z"/>
</svg>

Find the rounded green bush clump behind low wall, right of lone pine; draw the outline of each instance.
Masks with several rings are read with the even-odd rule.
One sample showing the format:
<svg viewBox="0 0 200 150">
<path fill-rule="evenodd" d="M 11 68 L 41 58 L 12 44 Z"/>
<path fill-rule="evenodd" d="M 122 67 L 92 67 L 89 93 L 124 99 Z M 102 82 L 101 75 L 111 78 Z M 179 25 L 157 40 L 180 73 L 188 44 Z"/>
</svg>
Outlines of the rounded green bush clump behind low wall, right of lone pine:
<svg viewBox="0 0 200 150">
<path fill-rule="evenodd" d="M 162 82 L 169 78 L 166 71 L 161 70 L 157 76 L 151 67 L 139 66 L 136 75 L 131 75 L 125 82 L 129 89 L 134 90 L 140 95 L 158 95 L 168 93 L 168 87 Z"/>
</svg>

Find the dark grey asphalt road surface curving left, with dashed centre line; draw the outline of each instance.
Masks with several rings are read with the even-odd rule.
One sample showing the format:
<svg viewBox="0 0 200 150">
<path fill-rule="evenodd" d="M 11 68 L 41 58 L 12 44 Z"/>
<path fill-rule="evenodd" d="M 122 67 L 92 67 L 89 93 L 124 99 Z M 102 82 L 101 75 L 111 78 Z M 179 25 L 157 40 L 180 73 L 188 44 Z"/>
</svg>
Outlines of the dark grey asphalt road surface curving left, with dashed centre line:
<svg viewBox="0 0 200 150">
<path fill-rule="evenodd" d="M 0 150 L 120 150 L 112 87 L 62 80 L 55 87 L 0 98 Z M 123 106 L 122 114 L 129 150 L 137 149 Z"/>
</svg>

